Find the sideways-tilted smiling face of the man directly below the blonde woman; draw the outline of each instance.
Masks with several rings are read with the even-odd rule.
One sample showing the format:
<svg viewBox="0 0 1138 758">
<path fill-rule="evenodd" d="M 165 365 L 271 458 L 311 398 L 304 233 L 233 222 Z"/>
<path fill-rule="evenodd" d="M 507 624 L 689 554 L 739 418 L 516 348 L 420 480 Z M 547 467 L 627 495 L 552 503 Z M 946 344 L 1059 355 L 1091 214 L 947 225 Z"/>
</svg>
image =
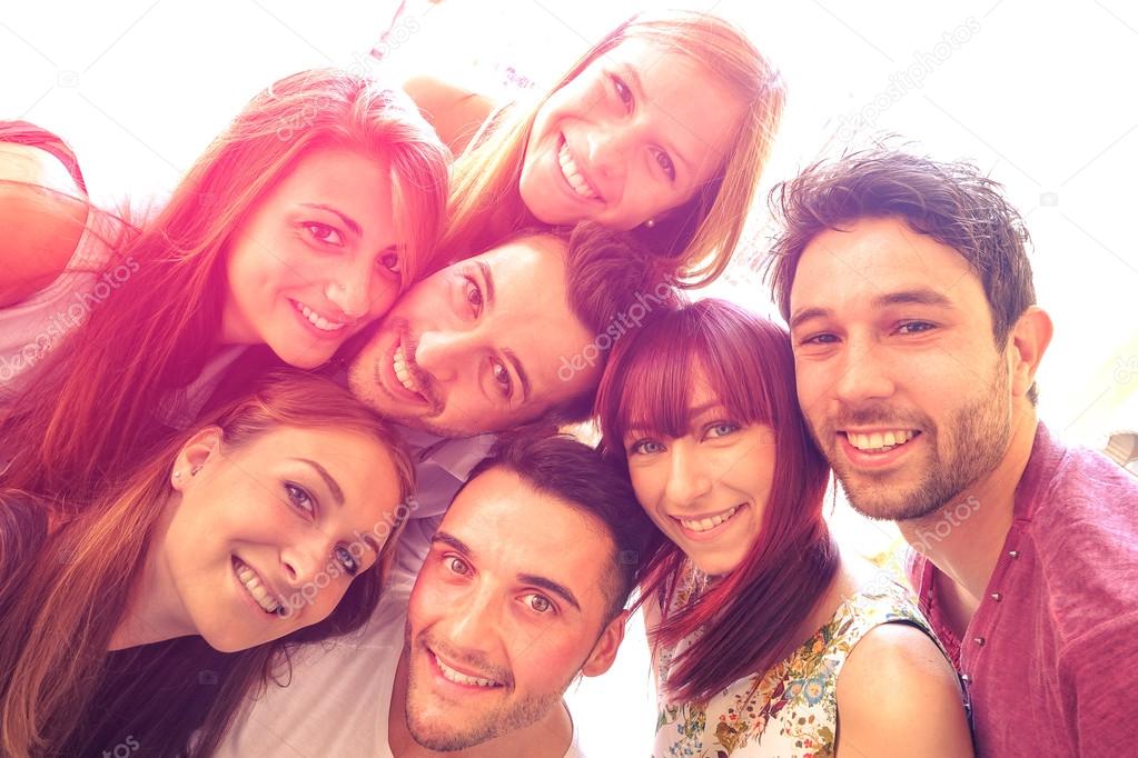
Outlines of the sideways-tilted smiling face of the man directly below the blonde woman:
<svg viewBox="0 0 1138 758">
<path fill-rule="evenodd" d="M 566 292 L 564 243 L 533 236 L 460 261 L 412 286 L 352 365 L 352 392 L 385 416 L 443 436 L 531 420 L 594 386 L 599 367 L 563 378 L 562 357 L 594 335 Z"/>
</svg>

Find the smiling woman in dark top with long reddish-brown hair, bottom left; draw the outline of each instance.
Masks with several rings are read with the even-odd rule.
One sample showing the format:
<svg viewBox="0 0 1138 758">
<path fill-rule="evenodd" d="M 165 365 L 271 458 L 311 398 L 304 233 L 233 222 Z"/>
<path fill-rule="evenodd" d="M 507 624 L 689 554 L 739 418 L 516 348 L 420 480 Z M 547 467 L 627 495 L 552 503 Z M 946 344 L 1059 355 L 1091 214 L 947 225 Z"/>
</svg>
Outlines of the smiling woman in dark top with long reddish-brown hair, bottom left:
<svg viewBox="0 0 1138 758">
<path fill-rule="evenodd" d="M 412 473 L 369 408 L 297 374 L 77 515 L 0 491 L 0 755 L 209 755 L 289 650 L 369 618 Z"/>
</svg>

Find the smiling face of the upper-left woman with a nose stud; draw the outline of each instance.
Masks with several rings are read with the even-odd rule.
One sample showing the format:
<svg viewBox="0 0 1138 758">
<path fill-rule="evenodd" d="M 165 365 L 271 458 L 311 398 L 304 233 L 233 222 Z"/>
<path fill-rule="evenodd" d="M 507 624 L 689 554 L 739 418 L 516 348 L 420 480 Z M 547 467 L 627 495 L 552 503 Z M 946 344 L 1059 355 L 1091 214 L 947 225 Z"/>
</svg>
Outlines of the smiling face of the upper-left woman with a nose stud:
<svg viewBox="0 0 1138 758">
<path fill-rule="evenodd" d="M 323 364 L 390 308 L 404 247 L 388 166 L 353 150 L 313 150 L 230 241 L 222 340 L 263 342 L 300 368 Z"/>
</svg>

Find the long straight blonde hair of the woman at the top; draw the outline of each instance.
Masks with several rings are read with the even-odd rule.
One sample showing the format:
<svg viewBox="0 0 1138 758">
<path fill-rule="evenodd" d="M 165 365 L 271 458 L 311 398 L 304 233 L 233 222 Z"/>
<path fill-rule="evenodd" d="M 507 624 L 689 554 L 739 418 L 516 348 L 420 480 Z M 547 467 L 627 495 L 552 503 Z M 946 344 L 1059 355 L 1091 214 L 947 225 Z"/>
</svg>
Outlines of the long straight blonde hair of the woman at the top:
<svg viewBox="0 0 1138 758">
<path fill-rule="evenodd" d="M 447 228 L 436 265 L 475 255 L 518 228 L 537 224 L 521 200 L 518 183 L 538 110 L 589 64 L 632 39 L 690 56 L 745 105 L 715 177 L 652 228 L 642 225 L 634 232 L 684 286 L 709 284 L 724 272 L 742 236 L 786 92 L 778 72 L 739 28 L 718 16 L 694 11 L 634 16 L 597 42 L 535 105 L 505 108 L 492 116 L 493 122 L 455 161 Z"/>
</svg>

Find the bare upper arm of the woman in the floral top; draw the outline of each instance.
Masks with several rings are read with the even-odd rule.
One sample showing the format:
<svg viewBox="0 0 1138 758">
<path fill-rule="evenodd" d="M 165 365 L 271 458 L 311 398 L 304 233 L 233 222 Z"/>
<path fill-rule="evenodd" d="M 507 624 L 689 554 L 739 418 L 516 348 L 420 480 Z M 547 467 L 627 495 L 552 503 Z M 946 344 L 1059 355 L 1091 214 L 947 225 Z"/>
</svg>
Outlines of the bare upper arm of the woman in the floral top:
<svg viewBox="0 0 1138 758">
<path fill-rule="evenodd" d="M 972 756 L 959 683 L 937 644 L 908 624 L 882 624 L 838 677 L 841 756 Z"/>
</svg>

